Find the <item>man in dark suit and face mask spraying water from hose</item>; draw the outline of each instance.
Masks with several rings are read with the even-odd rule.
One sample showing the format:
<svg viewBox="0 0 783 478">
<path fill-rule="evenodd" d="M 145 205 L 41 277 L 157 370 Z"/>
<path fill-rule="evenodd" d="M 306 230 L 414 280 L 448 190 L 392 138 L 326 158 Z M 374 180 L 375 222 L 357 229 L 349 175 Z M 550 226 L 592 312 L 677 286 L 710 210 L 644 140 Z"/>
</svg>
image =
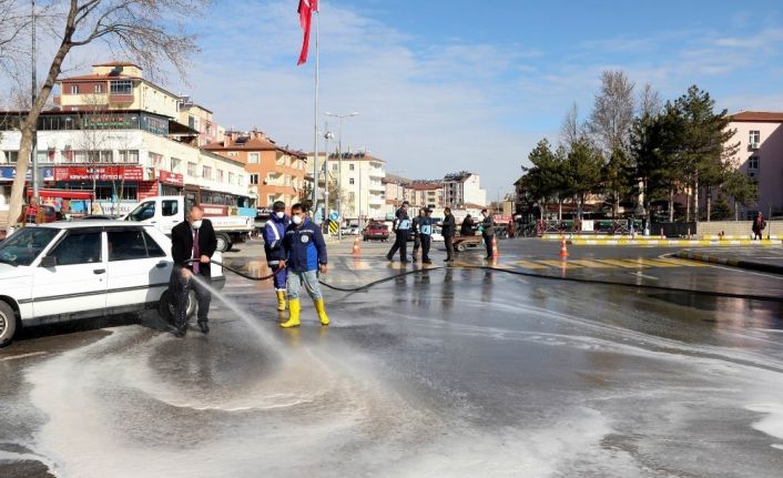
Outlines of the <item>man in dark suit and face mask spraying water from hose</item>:
<svg viewBox="0 0 783 478">
<path fill-rule="evenodd" d="M 193 288 L 199 301 L 199 328 L 209 334 L 207 314 L 212 295 L 204 287 L 210 283 L 210 258 L 217 248 L 212 222 L 204 218 L 204 211 L 194 205 L 187 218 L 171 231 L 171 255 L 174 267 L 171 272 L 170 288 L 176 305 L 176 330 L 174 335 L 184 337 L 187 332 L 187 295 Z M 197 260 L 185 264 L 185 261 Z M 197 277 L 193 277 L 197 276 Z"/>
</svg>

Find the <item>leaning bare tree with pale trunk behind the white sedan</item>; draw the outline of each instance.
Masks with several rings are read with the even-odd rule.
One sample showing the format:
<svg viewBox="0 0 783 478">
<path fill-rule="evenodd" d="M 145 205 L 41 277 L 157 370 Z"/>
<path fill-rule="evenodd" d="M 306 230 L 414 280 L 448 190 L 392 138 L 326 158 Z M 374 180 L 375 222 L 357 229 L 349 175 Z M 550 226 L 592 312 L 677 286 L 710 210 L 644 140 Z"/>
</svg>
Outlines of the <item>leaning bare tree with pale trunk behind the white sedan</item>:
<svg viewBox="0 0 783 478">
<path fill-rule="evenodd" d="M 209 0 L 62 0 L 55 3 L 57 8 L 53 8 L 48 17 L 47 28 L 58 35 L 60 44 L 50 61 L 35 101 L 21 125 L 22 140 L 17 176 L 11 189 L 9 217 L 21 214 L 33 130 L 71 50 L 103 41 L 115 54 L 143 67 L 151 79 L 156 78 L 163 70 L 163 62 L 184 75 L 187 59 L 197 52 L 195 37 L 185 32 L 185 24 L 194 14 L 201 13 L 207 2 Z M 21 6 L 13 1 L 12 3 L 11 17 L 21 16 Z"/>
</svg>

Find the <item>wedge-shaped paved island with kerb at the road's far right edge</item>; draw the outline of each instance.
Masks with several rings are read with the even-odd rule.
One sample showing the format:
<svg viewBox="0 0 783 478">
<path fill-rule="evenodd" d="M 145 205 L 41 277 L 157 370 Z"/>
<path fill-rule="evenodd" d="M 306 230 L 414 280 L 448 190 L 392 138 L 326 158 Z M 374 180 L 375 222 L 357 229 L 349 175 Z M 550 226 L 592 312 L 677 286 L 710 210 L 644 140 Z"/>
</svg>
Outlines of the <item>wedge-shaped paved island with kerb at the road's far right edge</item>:
<svg viewBox="0 0 783 478">
<path fill-rule="evenodd" d="M 682 250 L 680 258 L 723 264 L 783 275 L 783 247 L 699 247 Z"/>
</svg>

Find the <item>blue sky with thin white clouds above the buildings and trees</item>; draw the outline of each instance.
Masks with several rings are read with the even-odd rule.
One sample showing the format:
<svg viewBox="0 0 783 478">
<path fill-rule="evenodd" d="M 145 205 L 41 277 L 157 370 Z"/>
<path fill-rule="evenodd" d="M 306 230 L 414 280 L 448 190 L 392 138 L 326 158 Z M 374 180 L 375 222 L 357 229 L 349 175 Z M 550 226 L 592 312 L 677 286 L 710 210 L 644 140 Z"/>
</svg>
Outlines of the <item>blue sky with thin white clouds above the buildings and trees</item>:
<svg viewBox="0 0 783 478">
<path fill-rule="evenodd" d="M 203 47 L 193 73 L 169 88 L 190 92 L 226 126 L 257 126 L 312 150 L 314 61 L 296 67 L 296 4 L 215 1 L 193 26 Z M 607 69 L 663 99 L 695 83 L 732 112 L 783 110 L 782 8 L 323 0 L 321 111 L 358 111 L 344 123 L 344 145 L 366 148 L 388 171 L 434 179 L 471 170 L 492 199 L 511 190 L 539 139 L 557 141 L 571 104 L 589 114 Z"/>
</svg>

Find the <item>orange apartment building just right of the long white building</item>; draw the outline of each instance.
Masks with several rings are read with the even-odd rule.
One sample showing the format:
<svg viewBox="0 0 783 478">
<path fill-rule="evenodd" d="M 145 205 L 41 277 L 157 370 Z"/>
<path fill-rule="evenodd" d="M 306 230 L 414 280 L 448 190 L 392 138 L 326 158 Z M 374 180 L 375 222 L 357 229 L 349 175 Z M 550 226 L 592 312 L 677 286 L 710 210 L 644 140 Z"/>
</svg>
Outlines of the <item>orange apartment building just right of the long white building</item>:
<svg viewBox="0 0 783 478">
<path fill-rule="evenodd" d="M 305 192 L 307 155 L 276 144 L 262 131 L 227 131 L 222 141 L 206 144 L 204 150 L 244 165 L 246 193 L 257 199 L 260 207 L 271 207 L 275 201 L 291 205 Z"/>
</svg>

